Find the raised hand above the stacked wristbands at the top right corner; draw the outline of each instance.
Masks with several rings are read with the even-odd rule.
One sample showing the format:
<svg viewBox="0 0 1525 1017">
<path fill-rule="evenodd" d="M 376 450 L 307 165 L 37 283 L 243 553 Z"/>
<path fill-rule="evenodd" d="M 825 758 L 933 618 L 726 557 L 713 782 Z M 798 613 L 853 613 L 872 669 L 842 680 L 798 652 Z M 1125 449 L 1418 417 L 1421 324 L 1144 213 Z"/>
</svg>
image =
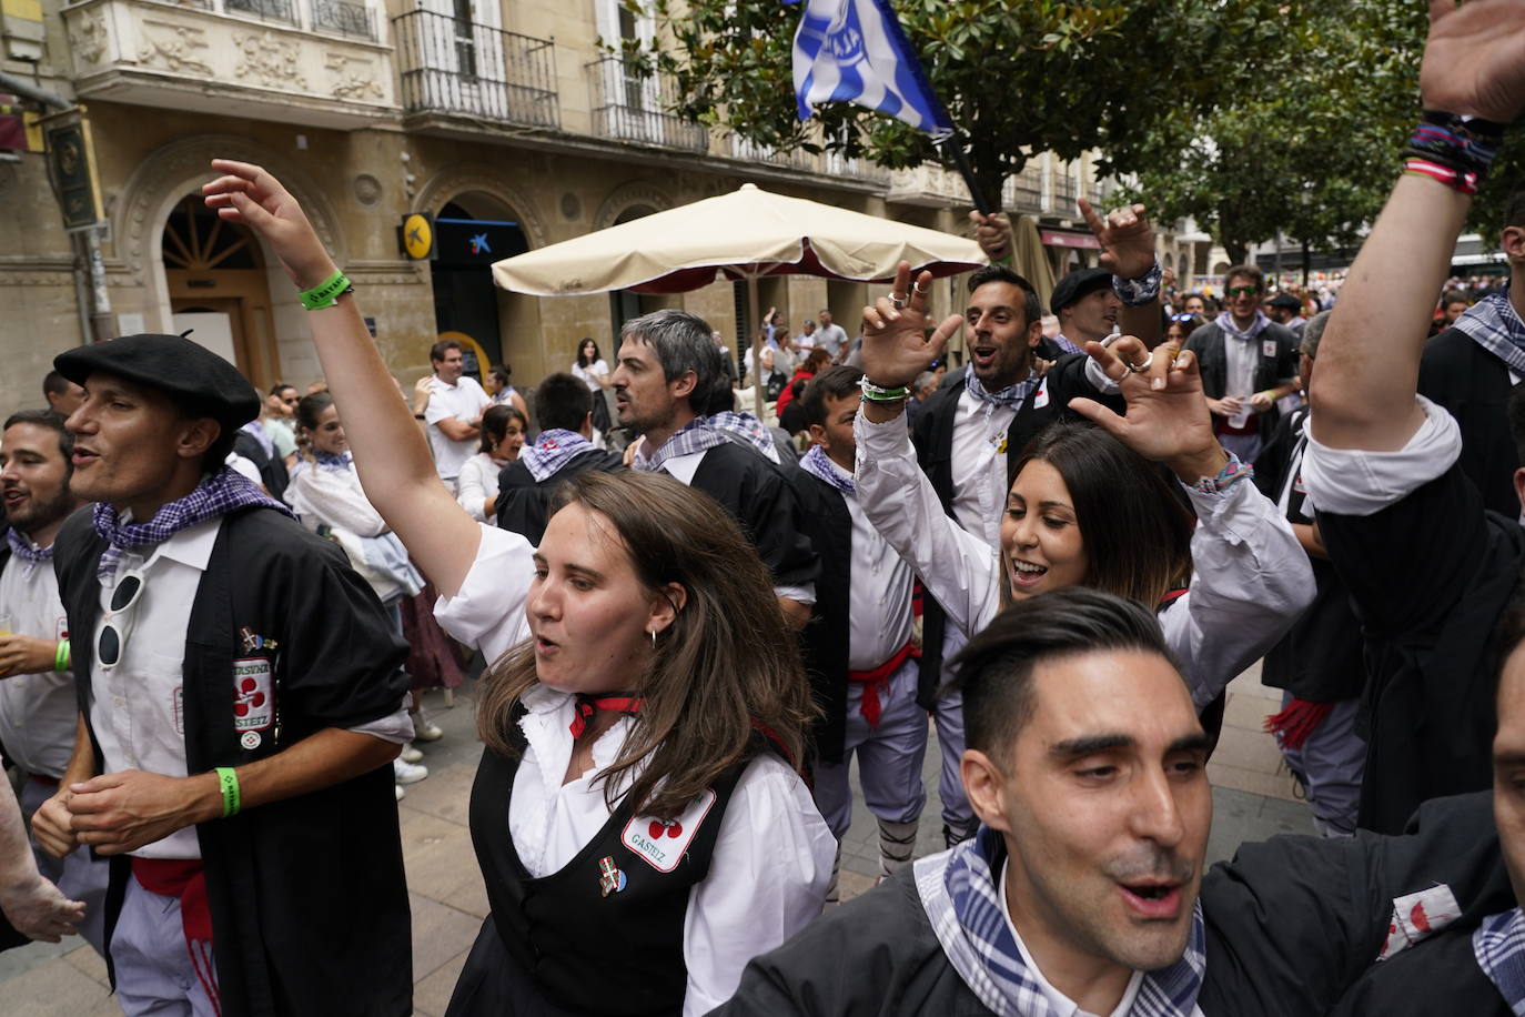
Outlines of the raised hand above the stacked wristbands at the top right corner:
<svg viewBox="0 0 1525 1017">
<path fill-rule="evenodd" d="M 1426 110 L 1508 124 L 1525 108 L 1525 5 L 1430 0 L 1420 66 Z"/>
</svg>

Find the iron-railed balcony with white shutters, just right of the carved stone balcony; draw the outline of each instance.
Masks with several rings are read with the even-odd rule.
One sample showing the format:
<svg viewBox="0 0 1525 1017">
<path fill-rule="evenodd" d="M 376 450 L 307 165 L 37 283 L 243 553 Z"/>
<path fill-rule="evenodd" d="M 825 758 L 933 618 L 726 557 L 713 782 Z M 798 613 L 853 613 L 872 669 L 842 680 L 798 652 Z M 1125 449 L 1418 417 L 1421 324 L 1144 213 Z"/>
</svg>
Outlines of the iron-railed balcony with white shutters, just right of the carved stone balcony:
<svg viewBox="0 0 1525 1017">
<path fill-rule="evenodd" d="M 409 116 L 561 125 L 552 40 L 433 11 L 400 14 L 392 35 Z"/>
</svg>

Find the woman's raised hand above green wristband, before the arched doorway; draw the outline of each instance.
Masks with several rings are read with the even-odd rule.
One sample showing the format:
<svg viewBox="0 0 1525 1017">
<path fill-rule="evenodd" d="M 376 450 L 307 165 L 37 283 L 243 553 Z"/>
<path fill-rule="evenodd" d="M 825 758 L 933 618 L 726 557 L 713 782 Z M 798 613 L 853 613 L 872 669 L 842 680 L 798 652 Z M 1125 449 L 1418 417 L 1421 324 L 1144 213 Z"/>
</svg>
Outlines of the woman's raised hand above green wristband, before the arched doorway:
<svg viewBox="0 0 1525 1017">
<path fill-rule="evenodd" d="M 279 180 L 253 163 L 230 159 L 214 159 L 212 169 L 223 175 L 203 184 L 206 207 L 259 233 L 291 282 L 311 290 L 334 274 L 334 259 L 323 250 L 302 206 Z"/>
</svg>

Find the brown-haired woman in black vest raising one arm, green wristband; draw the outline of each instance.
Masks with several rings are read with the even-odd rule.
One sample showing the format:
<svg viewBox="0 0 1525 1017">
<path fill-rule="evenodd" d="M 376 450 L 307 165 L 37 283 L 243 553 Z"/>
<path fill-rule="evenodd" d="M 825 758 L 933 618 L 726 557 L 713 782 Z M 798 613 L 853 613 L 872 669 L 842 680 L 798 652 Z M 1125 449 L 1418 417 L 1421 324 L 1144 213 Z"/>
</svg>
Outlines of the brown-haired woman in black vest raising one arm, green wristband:
<svg viewBox="0 0 1525 1017">
<path fill-rule="evenodd" d="M 474 523 L 378 395 L 386 367 L 300 207 L 258 166 L 214 168 L 207 204 L 337 294 L 308 322 L 361 483 L 441 624 L 496 662 L 471 794 L 493 913 L 448 1012 L 708 1012 L 819 913 L 836 849 L 795 768 L 810 694 L 766 569 L 660 476 L 569 482 L 538 547 Z"/>
</svg>

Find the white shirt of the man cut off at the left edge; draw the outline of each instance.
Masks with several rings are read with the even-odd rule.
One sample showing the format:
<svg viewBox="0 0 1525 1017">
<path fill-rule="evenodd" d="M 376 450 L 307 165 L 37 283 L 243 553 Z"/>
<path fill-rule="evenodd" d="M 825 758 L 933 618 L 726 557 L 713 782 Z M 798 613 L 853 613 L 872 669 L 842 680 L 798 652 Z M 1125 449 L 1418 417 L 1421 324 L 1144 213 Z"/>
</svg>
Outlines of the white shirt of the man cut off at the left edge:
<svg viewBox="0 0 1525 1017">
<path fill-rule="evenodd" d="M 69 636 L 52 561 L 26 561 L 11 555 L 5 572 L 0 572 L 0 628 L 37 639 Z M 75 675 L 69 671 L 0 679 L 0 743 L 26 773 L 64 775 L 75 747 L 78 718 Z"/>
</svg>

